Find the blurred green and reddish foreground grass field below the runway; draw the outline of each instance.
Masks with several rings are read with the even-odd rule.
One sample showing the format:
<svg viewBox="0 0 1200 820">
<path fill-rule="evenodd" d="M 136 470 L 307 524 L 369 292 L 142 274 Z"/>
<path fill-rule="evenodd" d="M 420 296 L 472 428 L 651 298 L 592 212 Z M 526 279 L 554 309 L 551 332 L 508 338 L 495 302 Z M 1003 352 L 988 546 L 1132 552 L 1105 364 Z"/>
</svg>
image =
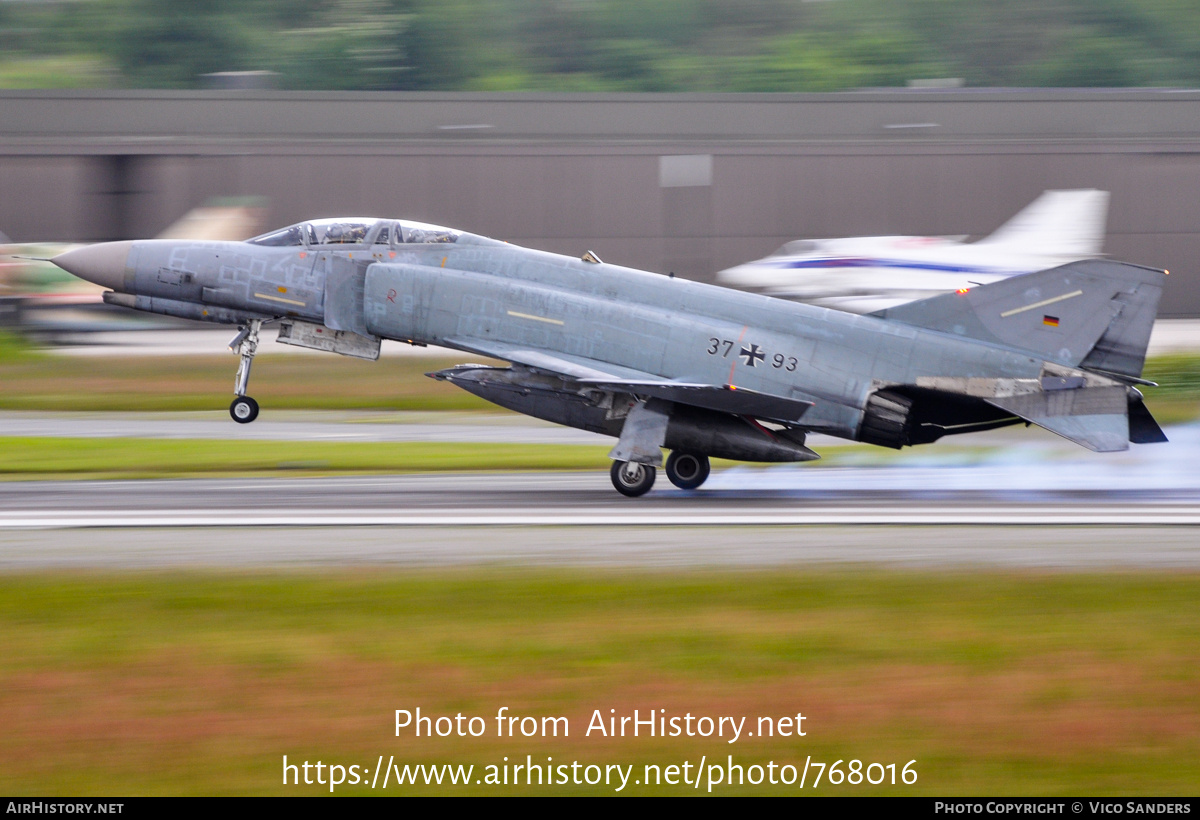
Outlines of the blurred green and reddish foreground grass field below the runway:
<svg viewBox="0 0 1200 820">
<path fill-rule="evenodd" d="M 638 773 L 702 755 L 917 761 L 911 786 L 817 794 L 1194 795 L 1200 771 L 1195 574 L 7 575 L 0 658 L 5 794 L 328 792 L 283 788 L 284 754 Z M 481 716 L 486 735 L 396 737 L 395 710 L 418 706 Z M 564 716 L 570 736 L 497 738 L 500 706 Z M 594 710 L 634 708 L 749 725 L 800 712 L 806 736 L 584 737 Z"/>
</svg>

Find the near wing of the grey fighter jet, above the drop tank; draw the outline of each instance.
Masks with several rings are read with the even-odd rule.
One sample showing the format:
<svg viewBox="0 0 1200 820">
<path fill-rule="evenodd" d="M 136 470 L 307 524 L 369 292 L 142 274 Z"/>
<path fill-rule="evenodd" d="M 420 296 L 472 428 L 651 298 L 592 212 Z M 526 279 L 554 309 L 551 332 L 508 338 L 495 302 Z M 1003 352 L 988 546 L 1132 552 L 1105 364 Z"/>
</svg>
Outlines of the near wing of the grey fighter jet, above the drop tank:
<svg viewBox="0 0 1200 820">
<path fill-rule="evenodd" d="M 606 361 L 564 353 L 547 353 L 516 345 L 478 341 L 445 340 L 445 345 L 469 353 L 504 359 L 559 376 L 566 376 L 580 384 L 605 388 L 638 396 L 662 399 L 679 405 L 690 405 L 719 413 L 752 415 L 757 419 L 796 424 L 812 407 L 811 401 L 799 401 L 775 396 L 757 390 L 748 390 L 732 384 L 703 384 L 665 379 L 630 367 L 620 367 Z"/>
</svg>

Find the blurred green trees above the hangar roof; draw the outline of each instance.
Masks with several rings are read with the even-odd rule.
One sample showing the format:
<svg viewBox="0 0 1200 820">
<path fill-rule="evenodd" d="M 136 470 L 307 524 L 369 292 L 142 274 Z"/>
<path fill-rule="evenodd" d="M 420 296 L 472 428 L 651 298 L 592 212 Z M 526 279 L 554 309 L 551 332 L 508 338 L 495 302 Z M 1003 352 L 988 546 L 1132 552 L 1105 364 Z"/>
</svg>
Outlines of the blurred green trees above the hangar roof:
<svg viewBox="0 0 1200 820">
<path fill-rule="evenodd" d="M 1195 0 L 5 0 L 0 86 L 1200 85 Z"/>
</svg>

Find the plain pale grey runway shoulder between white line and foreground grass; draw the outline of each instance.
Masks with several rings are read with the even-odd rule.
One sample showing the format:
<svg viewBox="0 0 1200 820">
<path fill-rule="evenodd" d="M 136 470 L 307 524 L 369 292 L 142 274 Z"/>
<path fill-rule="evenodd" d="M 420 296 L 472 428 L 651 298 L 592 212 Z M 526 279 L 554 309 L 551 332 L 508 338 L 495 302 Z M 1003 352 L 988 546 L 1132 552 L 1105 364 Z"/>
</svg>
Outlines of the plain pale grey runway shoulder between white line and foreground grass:
<svg viewBox="0 0 1200 820">
<path fill-rule="evenodd" d="M 37 569 L 628 567 L 1200 570 L 1194 527 L 277 527 L 0 529 Z"/>
</svg>

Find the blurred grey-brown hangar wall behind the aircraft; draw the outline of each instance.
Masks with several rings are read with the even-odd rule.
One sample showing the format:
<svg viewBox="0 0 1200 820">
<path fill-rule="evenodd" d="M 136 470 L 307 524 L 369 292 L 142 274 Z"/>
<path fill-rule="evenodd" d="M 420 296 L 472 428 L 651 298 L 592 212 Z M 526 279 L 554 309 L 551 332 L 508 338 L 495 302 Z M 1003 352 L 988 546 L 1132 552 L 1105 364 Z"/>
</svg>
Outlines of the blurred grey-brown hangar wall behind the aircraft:
<svg viewBox="0 0 1200 820">
<path fill-rule="evenodd" d="M 1069 187 L 1111 191 L 1106 252 L 1200 316 L 1200 91 L 0 95 L 18 241 L 253 196 L 268 227 L 397 216 L 710 281 L 798 238 L 979 238 Z"/>
</svg>

